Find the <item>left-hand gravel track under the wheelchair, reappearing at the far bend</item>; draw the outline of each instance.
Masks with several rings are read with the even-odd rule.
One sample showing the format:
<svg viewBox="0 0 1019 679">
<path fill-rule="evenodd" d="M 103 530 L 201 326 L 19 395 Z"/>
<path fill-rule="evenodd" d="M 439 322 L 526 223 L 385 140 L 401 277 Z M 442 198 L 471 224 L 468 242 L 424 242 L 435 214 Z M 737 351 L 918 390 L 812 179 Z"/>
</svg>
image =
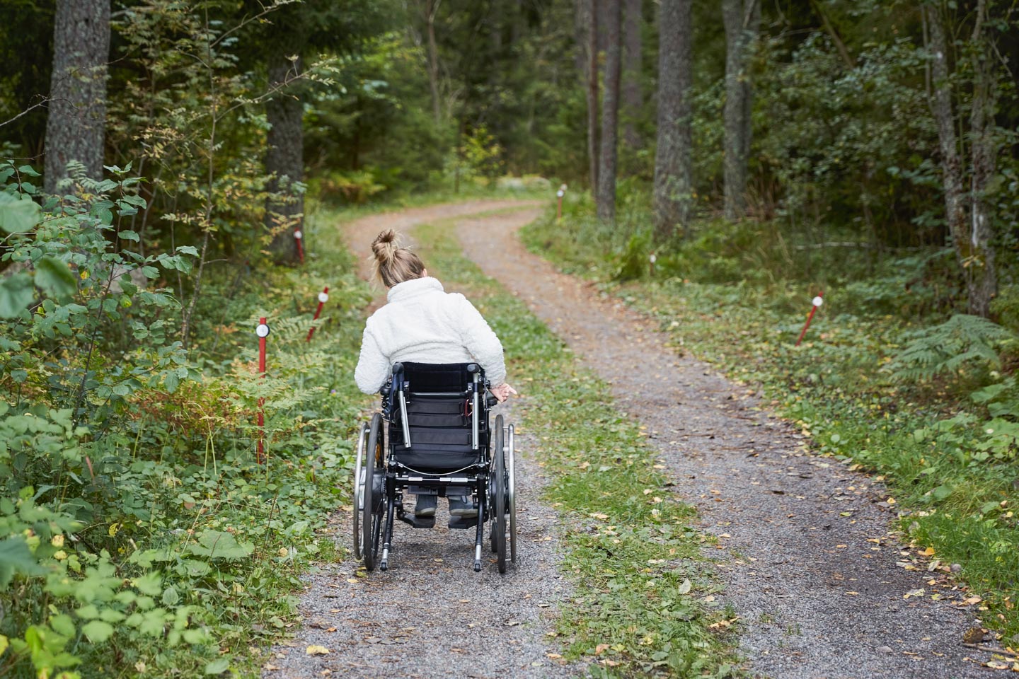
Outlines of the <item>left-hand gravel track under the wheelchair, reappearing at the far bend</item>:
<svg viewBox="0 0 1019 679">
<path fill-rule="evenodd" d="M 419 223 L 520 205 L 475 202 L 376 215 L 344 225 L 343 235 L 361 252 L 384 228 L 407 232 Z M 514 421 L 513 406 L 499 406 L 493 418 L 500 411 Z M 262 676 L 539 679 L 582 673 L 561 663 L 559 646 L 547 636 L 571 586 L 558 570 L 558 517 L 541 502 L 544 479 L 528 454 L 533 447 L 531 437 L 518 431 L 516 567 L 499 575 L 493 557 L 475 573 L 474 530 L 448 529 L 440 500 L 433 529 L 396 521 L 387 572 L 359 574 L 348 558 L 310 574 L 301 603 L 304 624 L 273 648 Z M 331 523 L 347 551 L 351 522 L 346 508 Z M 309 655 L 313 645 L 329 653 Z"/>
</svg>

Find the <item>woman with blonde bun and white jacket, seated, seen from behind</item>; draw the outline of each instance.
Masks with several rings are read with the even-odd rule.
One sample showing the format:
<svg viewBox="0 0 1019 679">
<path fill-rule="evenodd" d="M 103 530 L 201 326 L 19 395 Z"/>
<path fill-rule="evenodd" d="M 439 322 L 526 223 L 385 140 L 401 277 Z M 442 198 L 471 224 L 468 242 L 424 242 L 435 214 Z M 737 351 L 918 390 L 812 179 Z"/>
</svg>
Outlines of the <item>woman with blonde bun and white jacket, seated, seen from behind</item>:
<svg viewBox="0 0 1019 679">
<path fill-rule="evenodd" d="M 376 278 L 388 288 L 386 304 L 368 319 L 355 371 L 358 387 L 376 394 L 392 377 L 394 363 L 481 365 L 490 391 L 504 401 L 516 390 L 505 383 L 502 344 L 460 293 L 447 293 L 428 275 L 417 254 L 399 246 L 396 233 L 383 231 L 372 243 Z M 448 496 L 452 517 L 473 518 L 478 509 L 468 496 Z M 437 495 L 419 494 L 414 513 L 435 515 Z"/>
</svg>

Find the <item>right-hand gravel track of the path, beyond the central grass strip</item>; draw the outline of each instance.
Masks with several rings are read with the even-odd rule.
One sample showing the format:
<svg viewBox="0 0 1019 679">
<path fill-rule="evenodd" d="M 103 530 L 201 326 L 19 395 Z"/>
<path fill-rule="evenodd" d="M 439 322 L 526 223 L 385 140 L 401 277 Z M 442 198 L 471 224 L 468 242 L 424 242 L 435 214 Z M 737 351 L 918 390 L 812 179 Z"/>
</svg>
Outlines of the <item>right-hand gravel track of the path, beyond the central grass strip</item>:
<svg viewBox="0 0 1019 679">
<path fill-rule="evenodd" d="M 517 216 L 465 219 L 465 252 L 524 299 L 647 427 L 680 499 L 718 536 L 722 598 L 755 676 L 986 676 L 962 645 L 976 623 L 943 574 L 889 534 L 880 484 L 806 451 L 752 393 L 677 356 L 656 324 L 558 273 L 516 237 Z M 524 394 L 526 396 L 526 393 Z M 940 601 L 930 599 L 932 593 Z M 974 658 L 974 659 L 971 659 Z"/>
</svg>

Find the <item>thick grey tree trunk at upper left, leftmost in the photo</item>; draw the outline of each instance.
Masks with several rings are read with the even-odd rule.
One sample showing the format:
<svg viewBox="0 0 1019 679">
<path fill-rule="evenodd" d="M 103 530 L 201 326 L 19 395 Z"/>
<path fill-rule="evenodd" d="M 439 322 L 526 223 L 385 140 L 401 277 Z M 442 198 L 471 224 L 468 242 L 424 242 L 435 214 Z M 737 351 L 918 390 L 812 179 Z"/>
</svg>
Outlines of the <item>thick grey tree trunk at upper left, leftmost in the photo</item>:
<svg viewBox="0 0 1019 679">
<path fill-rule="evenodd" d="M 53 74 L 46 121 L 47 193 L 77 161 L 93 179 L 103 176 L 110 0 L 57 0 Z"/>
</svg>

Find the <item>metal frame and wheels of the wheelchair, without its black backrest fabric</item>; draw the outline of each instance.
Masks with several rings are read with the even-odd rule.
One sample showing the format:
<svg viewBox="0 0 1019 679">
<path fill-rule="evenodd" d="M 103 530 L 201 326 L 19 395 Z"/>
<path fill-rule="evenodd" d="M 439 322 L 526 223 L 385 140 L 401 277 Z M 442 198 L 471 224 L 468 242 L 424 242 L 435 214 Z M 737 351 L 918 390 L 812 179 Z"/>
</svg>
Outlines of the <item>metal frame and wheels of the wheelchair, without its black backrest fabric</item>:
<svg viewBox="0 0 1019 679">
<path fill-rule="evenodd" d="M 376 564 L 388 570 L 395 518 L 417 528 L 434 526 L 434 517 L 418 518 L 413 511 L 405 510 L 404 494 L 414 491 L 440 497 L 447 497 L 450 491 L 453 495 L 475 495 L 478 516 L 449 522 L 451 528 L 476 528 L 474 571 L 481 571 L 486 522 L 499 573 L 506 572 L 507 543 L 509 562 L 517 563 L 514 426 L 505 426 L 502 415 L 497 415 L 489 427 L 489 411 L 497 399 L 485 395 L 490 385 L 480 365 L 466 363 L 463 367 L 472 376 L 466 391 L 414 392 L 405 380 L 404 364 L 393 364 L 392 378 L 380 390 L 382 411 L 361 427 L 354 470 L 354 554 L 369 571 Z M 477 451 L 474 463 L 454 471 L 435 472 L 413 468 L 399 459 L 397 447 L 408 451 L 412 448 L 408 404 L 418 398 L 461 401 L 465 408 L 469 407 L 471 446 Z"/>
</svg>

